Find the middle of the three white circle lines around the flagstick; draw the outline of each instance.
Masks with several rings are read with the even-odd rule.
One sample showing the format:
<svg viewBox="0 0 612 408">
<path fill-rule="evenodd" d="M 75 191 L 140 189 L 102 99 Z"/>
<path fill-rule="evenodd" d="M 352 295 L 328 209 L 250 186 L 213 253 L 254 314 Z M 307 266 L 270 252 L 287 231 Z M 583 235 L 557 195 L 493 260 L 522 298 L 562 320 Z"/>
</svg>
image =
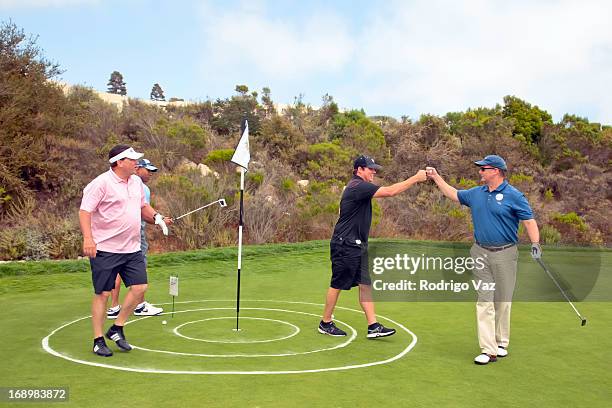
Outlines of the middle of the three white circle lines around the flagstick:
<svg viewBox="0 0 612 408">
<path fill-rule="evenodd" d="M 235 310 L 232 307 L 210 307 L 210 308 L 198 308 L 198 309 L 188 309 L 188 310 L 180 310 L 178 312 L 174 312 L 174 313 L 189 313 L 189 312 L 198 312 L 198 311 L 202 311 L 202 310 Z M 273 311 L 273 312 L 286 312 L 286 313 L 297 313 L 297 314 L 303 314 L 303 315 L 307 315 L 307 316 L 316 316 L 319 317 L 318 314 L 315 313 L 308 313 L 308 312 L 300 312 L 297 310 L 286 310 L 286 309 L 271 309 L 271 308 L 265 308 L 265 307 L 242 307 L 240 310 L 266 310 L 266 311 Z M 158 315 L 159 316 L 159 315 Z M 151 316 L 149 316 L 150 318 Z M 143 319 L 136 319 L 136 320 L 132 320 L 130 322 L 127 322 L 127 324 L 130 323 L 136 323 L 139 320 L 143 320 Z M 170 350 L 159 350 L 159 349 L 150 349 L 150 348 L 146 348 L 146 347 L 141 347 L 141 346 L 137 346 L 134 343 L 130 343 L 132 348 L 135 348 L 137 350 L 142 350 L 142 351 L 149 351 L 152 353 L 164 353 L 164 354 L 173 354 L 176 356 L 192 356 L 192 357 L 210 357 L 210 358 L 217 358 L 217 357 L 223 357 L 223 358 L 232 358 L 232 357 L 243 357 L 243 358 L 259 358 L 259 357 L 290 357 L 290 356 L 300 356 L 300 355 L 304 355 L 304 354 L 313 354 L 313 353 L 320 353 L 322 351 L 329 351 L 329 350 L 335 350 L 335 349 L 339 349 L 342 347 L 346 347 L 348 346 L 353 340 L 355 340 L 357 338 L 357 330 L 355 330 L 352 326 L 350 326 L 349 324 L 336 319 L 335 320 L 336 323 L 340 323 L 343 326 L 348 327 L 351 330 L 351 337 L 348 338 L 348 340 L 337 344 L 333 347 L 327 347 L 327 348 L 322 348 L 322 349 L 316 349 L 316 350 L 309 350 L 309 351 L 300 351 L 300 352 L 292 352 L 292 353 L 280 353 L 280 354 L 205 354 L 205 353 L 184 353 L 181 351 L 170 351 Z"/>
</svg>

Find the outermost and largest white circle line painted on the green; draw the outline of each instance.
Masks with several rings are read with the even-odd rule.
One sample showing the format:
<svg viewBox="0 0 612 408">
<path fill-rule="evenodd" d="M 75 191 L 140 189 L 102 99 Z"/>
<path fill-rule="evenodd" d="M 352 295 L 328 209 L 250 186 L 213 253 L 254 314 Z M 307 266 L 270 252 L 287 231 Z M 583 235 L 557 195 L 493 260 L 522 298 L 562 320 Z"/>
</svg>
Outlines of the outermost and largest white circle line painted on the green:
<svg viewBox="0 0 612 408">
<path fill-rule="evenodd" d="M 200 300 L 200 301 L 183 301 L 183 302 L 176 302 L 176 303 L 195 303 L 195 302 L 234 302 L 235 299 L 231 299 L 231 300 L 225 300 L 225 299 L 207 299 L 207 300 Z M 322 304 L 319 303 L 312 303 L 312 302 L 298 302 L 298 301 L 284 301 L 284 300 L 243 300 L 243 302 L 271 302 L 271 303 L 288 303 L 288 304 L 302 304 L 302 305 L 313 305 L 313 306 L 324 306 Z M 169 303 L 166 303 L 169 304 Z M 343 307 L 343 306 L 336 306 L 336 309 L 340 309 L 340 310 L 346 310 L 346 311 L 350 311 L 350 312 L 356 312 L 356 313 L 363 313 L 361 310 L 357 310 L 357 309 L 351 309 L 348 307 Z M 410 352 L 410 350 L 412 350 L 414 348 L 414 346 L 416 346 L 418 338 L 416 336 L 416 334 L 414 334 L 412 331 L 410 331 L 410 329 L 408 329 L 407 327 L 405 327 L 404 325 L 402 325 L 401 323 L 396 322 L 395 320 L 392 320 L 388 317 L 384 317 L 382 315 L 378 315 L 378 318 L 386 320 L 394 325 L 396 325 L 397 327 L 399 327 L 401 330 L 405 331 L 406 333 L 408 333 L 410 336 L 412 336 L 412 341 L 410 342 L 410 344 L 408 344 L 408 346 L 406 346 L 406 348 L 404 348 L 401 352 L 399 352 L 398 354 L 387 358 L 385 360 L 378 360 L 378 361 L 372 361 L 369 363 L 363 363 L 363 364 L 352 364 L 352 365 L 345 365 L 345 366 L 336 366 L 336 367 L 323 367 L 323 368 L 314 368 L 314 369 L 309 369 L 309 370 L 277 370 L 277 371 L 266 371 L 266 370 L 255 370 L 255 371 L 187 371 L 187 370 L 157 370 L 154 368 L 132 368 L 132 367 L 119 367 L 119 366 L 113 366 L 110 364 L 103 364 L 103 363 L 95 363 L 93 361 L 87 361 L 87 360 L 81 360 L 81 359 L 77 359 L 77 358 L 73 358 L 64 354 L 61 354 L 59 352 L 57 352 L 56 350 L 54 350 L 53 348 L 51 348 L 51 346 L 49 346 L 49 339 L 58 331 L 62 330 L 63 328 L 70 326 L 74 323 L 77 323 L 81 320 L 85 320 L 85 319 L 90 319 L 91 316 L 85 316 L 85 317 L 80 317 L 76 320 L 73 320 L 71 322 L 65 323 L 63 325 L 61 325 L 60 327 L 54 329 L 51 333 L 49 333 L 46 337 L 44 337 L 41 341 L 41 346 L 43 348 L 43 350 L 45 350 L 47 353 L 55 356 L 55 357 L 59 357 L 59 358 L 63 358 L 64 360 L 68 360 L 68 361 L 72 361 L 73 363 L 78 363 L 78 364 L 84 364 L 84 365 L 89 365 L 89 366 L 93 366 L 93 367 L 101 367 L 101 368 L 109 368 L 112 370 L 119 370 L 119 371 L 129 371 L 129 372 L 135 372 L 135 373 L 149 373 L 149 374 L 175 374 L 175 375 L 279 375 L 279 374 L 306 374 L 306 373 L 322 373 L 322 372 L 329 372 L 329 371 L 345 371 L 345 370 L 354 370 L 357 368 L 366 368 L 366 367 L 373 367 L 373 366 L 377 366 L 377 365 L 383 365 L 383 364 L 389 364 L 392 363 L 396 360 L 399 360 L 400 358 L 404 357 L 406 354 L 408 354 Z"/>
</svg>

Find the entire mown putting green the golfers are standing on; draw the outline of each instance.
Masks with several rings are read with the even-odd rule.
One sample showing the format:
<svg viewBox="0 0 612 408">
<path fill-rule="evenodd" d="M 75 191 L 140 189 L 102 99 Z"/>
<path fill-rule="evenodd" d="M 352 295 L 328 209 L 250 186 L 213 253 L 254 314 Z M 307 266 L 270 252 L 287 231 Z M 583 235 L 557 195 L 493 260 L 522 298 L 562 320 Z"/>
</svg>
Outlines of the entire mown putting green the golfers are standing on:
<svg viewBox="0 0 612 408">
<path fill-rule="evenodd" d="M 445 248 L 413 244 L 418 253 Z M 353 290 L 341 295 L 335 311 L 349 336 L 324 336 L 316 327 L 329 284 L 327 245 L 245 248 L 240 332 L 232 330 L 235 249 L 150 257 L 147 300 L 170 311 L 168 277 L 178 274 L 180 313 L 132 319 L 125 332 L 139 348 L 124 353 L 109 342 L 110 358 L 91 352 L 92 294 L 84 262 L 62 263 L 71 273 L 55 263 L 11 265 L 9 271 L 40 273 L 0 278 L 0 386 L 65 386 L 66 405 L 75 407 L 359 407 L 372 398 L 394 407 L 610 406 L 609 302 L 576 303 L 589 319 L 584 327 L 562 298 L 514 302 L 510 355 L 487 366 L 472 362 L 478 353 L 473 302 L 378 302 L 377 313 L 389 319 L 381 322 L 398 333 L 368 340 Z M 577 259 L 574 251 L 551 252 L 553 268 Z M 597 298 L 610 288 L 611 255 L 598 255 Z M 526 250 L 519 271 L 522 290 L 550 284 Z M 350 327 L 356 335 L 342 345 L 353 337 Z M 58 355 L 45 351 L 45 338 Z"/>
</svg>

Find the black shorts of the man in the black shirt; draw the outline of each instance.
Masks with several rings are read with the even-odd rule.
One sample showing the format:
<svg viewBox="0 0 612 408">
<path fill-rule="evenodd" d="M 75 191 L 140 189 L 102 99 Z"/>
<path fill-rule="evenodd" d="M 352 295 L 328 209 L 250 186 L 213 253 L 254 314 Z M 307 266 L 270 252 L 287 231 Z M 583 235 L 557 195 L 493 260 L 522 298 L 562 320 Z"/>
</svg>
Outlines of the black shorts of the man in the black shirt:
<svg viewBox="0 0 612 408">
<path fill-rule="evenodd" d="M 354 286 L 372 284 L 365 247 L 349 244 L 347 241 L 331 241 L 329 250 L 332 262 L 332 279 L 329 286 L 350 290 Z"/>
</svg>

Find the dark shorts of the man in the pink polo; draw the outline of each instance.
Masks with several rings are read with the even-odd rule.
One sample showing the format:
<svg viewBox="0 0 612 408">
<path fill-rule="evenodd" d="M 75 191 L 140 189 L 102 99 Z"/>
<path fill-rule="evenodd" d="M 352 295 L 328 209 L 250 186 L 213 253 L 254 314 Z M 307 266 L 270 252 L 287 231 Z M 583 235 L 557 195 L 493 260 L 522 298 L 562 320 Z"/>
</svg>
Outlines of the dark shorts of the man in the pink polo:
<svg viewBox="0 0 612 408">
<path fill-rule="evenodd" d="M 113 290 L 117 274 L 126 287 L 147 283 L 147 269 L 141 251 L 131 254 L 97 251 L 95 258 L 89 258 L 89 264 L 94 291 L 98 295 Z"/>
</svg>

